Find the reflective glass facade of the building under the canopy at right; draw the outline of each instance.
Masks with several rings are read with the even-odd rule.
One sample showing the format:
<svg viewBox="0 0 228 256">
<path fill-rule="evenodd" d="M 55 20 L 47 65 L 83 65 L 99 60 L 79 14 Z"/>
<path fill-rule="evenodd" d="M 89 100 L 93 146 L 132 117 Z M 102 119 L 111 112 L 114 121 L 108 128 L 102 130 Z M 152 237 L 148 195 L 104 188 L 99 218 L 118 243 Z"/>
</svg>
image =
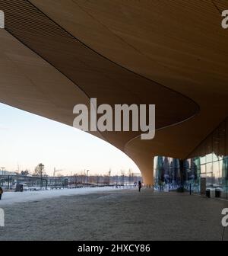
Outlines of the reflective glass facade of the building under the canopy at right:
<svg viewBox="0 0 228 256">
<path fill-rule="evenodd" d="M 200 193 L 201 178 L 206 178 L 212 196 L 219 190 L 221 197 L 228 198 L 228 119 L 184 160 L 182 170 L 179 159 L 154 158 L 155 188 L 163 184 L 172 189 L 184 184 L 188 190 L 191 184 L 192 190 Z"/>
</svg>

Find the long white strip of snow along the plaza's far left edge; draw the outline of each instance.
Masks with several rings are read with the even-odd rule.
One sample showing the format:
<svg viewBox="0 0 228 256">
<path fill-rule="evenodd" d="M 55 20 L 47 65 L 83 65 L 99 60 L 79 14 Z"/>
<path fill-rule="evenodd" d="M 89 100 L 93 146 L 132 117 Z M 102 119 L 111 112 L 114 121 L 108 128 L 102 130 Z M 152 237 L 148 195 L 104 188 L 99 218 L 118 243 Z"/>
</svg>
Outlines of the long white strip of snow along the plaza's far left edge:
<svg viewBox="0 0 228 256">
<path fill-rule="evenodd" d="M 74 196 L 78 194 L 91 194 L 108 190 L 116 190 L 116 187 L 83 187 L 83 188 L 65 188 L 57 190 L 38 190 L 24 192 L 5 192 L 0 200 L 0 207 L 12 203 L 24 203 L 28 201 L 39 201 L 53 197 Z"/>
</svg>

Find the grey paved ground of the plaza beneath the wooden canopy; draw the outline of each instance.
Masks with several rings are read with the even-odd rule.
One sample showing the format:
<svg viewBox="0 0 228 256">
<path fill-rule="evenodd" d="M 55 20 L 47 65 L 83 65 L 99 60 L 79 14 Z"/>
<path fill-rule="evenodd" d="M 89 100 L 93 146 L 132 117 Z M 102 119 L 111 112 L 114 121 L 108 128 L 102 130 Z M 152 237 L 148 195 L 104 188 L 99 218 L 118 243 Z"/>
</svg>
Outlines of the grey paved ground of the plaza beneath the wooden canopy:
<svg viewBox="0 0 228 256">
<path fill-rule="evenodd" d="M 150 189 L 14 203 L 2 206 L 0 240 L 220 240 L 224 207 L 227 201 Z"/>
</svg>

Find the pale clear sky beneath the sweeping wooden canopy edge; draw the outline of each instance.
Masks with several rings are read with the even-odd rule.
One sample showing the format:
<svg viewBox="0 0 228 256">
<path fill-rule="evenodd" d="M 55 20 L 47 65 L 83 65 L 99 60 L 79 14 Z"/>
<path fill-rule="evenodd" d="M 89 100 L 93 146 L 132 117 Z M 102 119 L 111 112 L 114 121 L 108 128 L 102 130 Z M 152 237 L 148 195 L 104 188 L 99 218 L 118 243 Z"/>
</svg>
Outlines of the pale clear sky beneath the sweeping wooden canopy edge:
<svg viewBox="0 0 228 256">
<path fill-rule="evenodd" d="M 0 103 L 0 167 L 7 171 L 28 169 L 40 162 L 47 174 L 90 170 L 90 174 L 140 172 L 135 163 L 116 147 L 74 127 Z"/>
</svg>

